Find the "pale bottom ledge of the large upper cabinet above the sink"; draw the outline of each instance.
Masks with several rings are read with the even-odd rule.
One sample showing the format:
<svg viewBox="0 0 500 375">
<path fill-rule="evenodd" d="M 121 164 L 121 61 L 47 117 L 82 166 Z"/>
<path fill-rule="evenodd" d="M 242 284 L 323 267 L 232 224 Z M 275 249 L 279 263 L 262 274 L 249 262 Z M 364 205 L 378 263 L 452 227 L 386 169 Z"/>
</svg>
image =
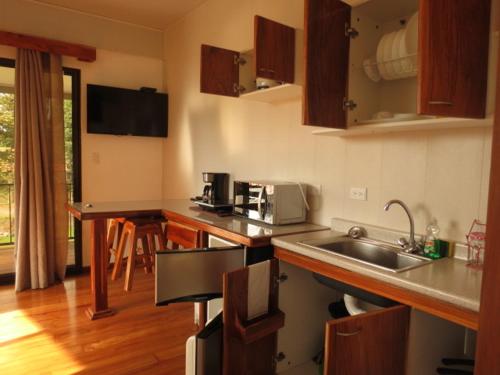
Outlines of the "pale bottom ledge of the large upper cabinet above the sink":
<svg viewBox="0 0 500 375">
<path fill-rule="evenodd" d="M 319 129 L 314 130 L 314 135 L 330 137 L 356 137 L 384 133 L 402 133 L 409 131 L 446 130 L 464 128 L 490 128 L 493 119 L 465 119 L 465 118 L 431 118 L 424 120 L 411 120 L 400 122 L 385 122 L 370 125 L 355 125 L 347 129 Z"/>
</svg>

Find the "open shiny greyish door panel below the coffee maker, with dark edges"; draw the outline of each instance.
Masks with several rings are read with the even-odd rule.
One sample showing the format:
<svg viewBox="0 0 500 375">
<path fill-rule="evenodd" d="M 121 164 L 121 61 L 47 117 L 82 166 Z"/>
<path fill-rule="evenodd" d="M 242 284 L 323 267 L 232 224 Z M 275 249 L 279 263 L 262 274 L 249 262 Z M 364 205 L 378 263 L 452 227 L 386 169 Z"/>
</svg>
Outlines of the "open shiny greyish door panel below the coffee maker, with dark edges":
<svg viewBox="0 0 500 375">
<path fill-rule="evenodd" d="M 244 264 L 243 246 L 159 251 L 156 253 L 156 305 L 221 297 L 224 272 Z"/>
</svg>

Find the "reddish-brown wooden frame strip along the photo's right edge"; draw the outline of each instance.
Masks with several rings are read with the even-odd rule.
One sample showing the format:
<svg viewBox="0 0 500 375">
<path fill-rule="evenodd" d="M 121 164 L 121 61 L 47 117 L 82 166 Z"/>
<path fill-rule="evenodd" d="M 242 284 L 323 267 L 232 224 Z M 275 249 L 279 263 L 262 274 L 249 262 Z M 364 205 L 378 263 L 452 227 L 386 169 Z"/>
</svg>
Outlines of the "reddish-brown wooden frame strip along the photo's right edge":
<svg viewBox="0 0 500 375">
<path fill-rule="evenodd" d="M 500 45 L 499 45 L 500 50 Z M 500 61 L 490 171 L 486 251 L 479 311 L 475 374 L 500 374 Z"/>
</svg>

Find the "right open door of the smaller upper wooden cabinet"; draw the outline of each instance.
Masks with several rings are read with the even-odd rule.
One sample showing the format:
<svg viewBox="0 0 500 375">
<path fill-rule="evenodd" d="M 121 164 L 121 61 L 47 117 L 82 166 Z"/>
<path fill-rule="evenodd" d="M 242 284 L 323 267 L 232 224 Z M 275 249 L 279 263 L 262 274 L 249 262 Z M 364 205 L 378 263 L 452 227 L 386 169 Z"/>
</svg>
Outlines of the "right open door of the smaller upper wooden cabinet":
<svg viewBox="0 0 500 375">
<path fill-rule="evenodd" d="M 293 83 L 295 29 L 255 16 L 255 75 Z"/>
</svg>

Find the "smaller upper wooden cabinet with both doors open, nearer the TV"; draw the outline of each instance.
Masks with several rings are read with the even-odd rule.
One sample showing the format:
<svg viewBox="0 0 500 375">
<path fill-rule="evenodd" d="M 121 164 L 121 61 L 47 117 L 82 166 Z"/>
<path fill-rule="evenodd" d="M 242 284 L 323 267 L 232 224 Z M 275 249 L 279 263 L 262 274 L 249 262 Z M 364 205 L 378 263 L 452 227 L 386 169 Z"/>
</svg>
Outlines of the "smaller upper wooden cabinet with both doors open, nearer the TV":
<svg viewBox="0 0 500 375">
<path fill-rule="evenodd" d="M 201 46 L 202 93 L 238 97 L 255 91 L 257 78 L 294 82 L 295 30 L 260 16 L 255 16 L 254 25 L 251 51 Z"/>
</svg>

